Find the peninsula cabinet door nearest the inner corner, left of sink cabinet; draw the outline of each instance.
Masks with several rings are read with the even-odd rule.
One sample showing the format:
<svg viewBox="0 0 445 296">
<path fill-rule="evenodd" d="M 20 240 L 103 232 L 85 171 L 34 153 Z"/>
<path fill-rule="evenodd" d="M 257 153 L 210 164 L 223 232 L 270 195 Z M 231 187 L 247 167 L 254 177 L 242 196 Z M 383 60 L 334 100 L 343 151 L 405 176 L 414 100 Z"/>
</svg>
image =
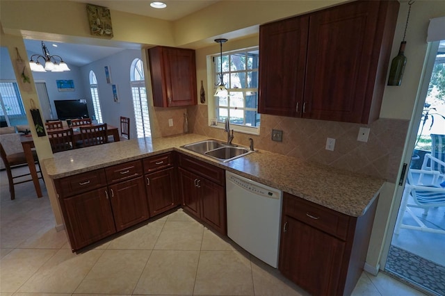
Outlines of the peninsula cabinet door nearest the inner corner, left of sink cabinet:
<svg viewBox="0 0 445 296">
<path fill-rule="evenodd" d="M 158 215 L 179 204 L 175 194 L 175 170 L 173 167 L 145 175 L 150 216 Z"/>
</svg>

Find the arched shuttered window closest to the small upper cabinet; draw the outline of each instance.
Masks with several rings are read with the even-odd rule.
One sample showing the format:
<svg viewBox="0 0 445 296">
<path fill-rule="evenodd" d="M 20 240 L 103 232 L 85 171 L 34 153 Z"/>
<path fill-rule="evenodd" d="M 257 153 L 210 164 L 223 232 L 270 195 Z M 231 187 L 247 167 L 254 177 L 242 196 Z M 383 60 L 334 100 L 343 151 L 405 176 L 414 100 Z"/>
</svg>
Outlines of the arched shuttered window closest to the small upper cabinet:
<svg viewBox="0 0 445 296">
<path fill-rule="evenodd" d="M 145 89 L 143 63 L 140 58 L 136 58 L 131 63 L 130 80 L 138 138 L 150 137 L 152 131 L 148 115 L 147 90 Z"/>
</svg>

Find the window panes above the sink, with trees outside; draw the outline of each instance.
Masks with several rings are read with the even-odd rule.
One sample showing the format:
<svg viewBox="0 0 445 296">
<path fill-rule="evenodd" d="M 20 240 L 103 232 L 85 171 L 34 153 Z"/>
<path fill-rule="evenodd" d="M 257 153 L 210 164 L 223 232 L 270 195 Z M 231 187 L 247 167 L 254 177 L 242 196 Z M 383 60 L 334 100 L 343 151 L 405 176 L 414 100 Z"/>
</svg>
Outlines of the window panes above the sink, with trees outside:
<svg viewBox="0 0 445 296">
<path fill-rule="evenodd" d="M 213 56 L 213 61 L 213 79 L 216 85 L 220 79 L 220 55 Z M 231 124 L 249 128 L 259 127 L 258 63 L 257 47 L 223 54 L 223 81 L 226 83 L 229 95 L 228 97 L 214 97 L 218 122 L 225 122 L 229 117 Z"/>
</svg>

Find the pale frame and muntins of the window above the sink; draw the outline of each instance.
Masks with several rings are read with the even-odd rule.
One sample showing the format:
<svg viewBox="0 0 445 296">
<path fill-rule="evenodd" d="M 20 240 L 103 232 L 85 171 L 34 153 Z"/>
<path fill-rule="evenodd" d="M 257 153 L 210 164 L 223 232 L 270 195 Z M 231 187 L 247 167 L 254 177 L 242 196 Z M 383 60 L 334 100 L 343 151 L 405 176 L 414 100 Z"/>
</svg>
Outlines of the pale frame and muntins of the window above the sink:
<svg viewBox="0 0 445 296">
<path fill-rule="evenodd" d="M 246 53 L 249 51 L 259 51 L 259 46 L 253 46 L 253 47 L 246 47 L 243 49 L 236 49 L 236 50 L 232 50 L 232 51 L 223 51 L 223 57 L 224 56 L 229 56 L 229 55 L 235 55 L 235 54 L 242 54 L 242 53 Z M 217 62 L 218 58 L 220 58 L 220 53 L 218 54 L 211 54 L 209 56 L 207 56 L 207 78 L 208 78 L 208 88 L 209 88 L 209 104 L 208 104 L 208 112 L 209 112 L 209 126 L 211 127 L 215 127 L 215 128 L 220 128 L 220 129 L 224 129 L 224 122 L 218 121 L 217 119 L 217 115 L 218 115 L 218 108 L 220 108 L 218 106 L 218 99 L 217 97 L 213 96 L 213 94 L 216 92 L 216 88 L 217 88 L 217 84 L 220 81 L 220 76 L 218 75 L 220 73 L 220 67 Z M 257 92 L 257 100 L 258 100 L 258 92 L 259 92 L 259 88 L 229 88 L 230 85 L 230 76 L 232 73 L 240 73 L 243 72 L 245 73 L 245 75 L 247 76 L 248 72 L 259 72 L 259 65 L 257 68 L 254 69 L 248 69 L 246 67 L 246 69 L 243 70 L 232 70 L 229 69 L 229 71 L 226 71 L 225 69 L 223 69 L 223 74 L 224 74 L 224 82 L 226 83 L 226 87 L 227 90 L 230 92 L 242 92 L 243 93 L 243 121 L 245 122 L 245 110 L 249 110 L 249 111 L 256 111 L 256 116 L 259 117 L 258 121 L 259 123 L 257 124 L 257 126 L 246 126 L 244 124 L 231 124 L 231 129 L 234 129 L 235 131 L 241 132 L 241 133 L 248 133 L 248 134 L 252 134 L 252 135 L 259 135 L 260 132 L 260 126 L 261 126 L 261 115 L 258 113 L 258 101 L 257 101 L 257 108 L 250 108 L 250 107 L 245 107 L 246 106 L 246 96 L 245 96 L 245 92 Z M 257 77 L 259 79 L 259 74 L 257 74 Z M 225 107 L 223 107 L 225 108 Z M 230 112 L 229 110 L 235 110 L 235 108 L 232 106 L 230 106 L 229 101 L 227 101 L 227 110 L 228 112 Z M 215 122 L 216 119 L 216 122 Z"/>
</svg>

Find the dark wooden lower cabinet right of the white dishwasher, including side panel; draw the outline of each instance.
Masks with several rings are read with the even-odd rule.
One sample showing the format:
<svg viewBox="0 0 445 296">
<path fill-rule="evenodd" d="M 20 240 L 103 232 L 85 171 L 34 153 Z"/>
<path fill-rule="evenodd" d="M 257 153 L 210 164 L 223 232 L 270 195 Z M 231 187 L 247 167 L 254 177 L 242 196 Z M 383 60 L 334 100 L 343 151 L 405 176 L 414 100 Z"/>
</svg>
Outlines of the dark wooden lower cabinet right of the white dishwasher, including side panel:
<svg viewBox="0 0 445 296">
<path fill-rule="evenodd" d="M 279 269 L 312 295 L 350 295 L 362 274 L 377 201 L 350 217 L 284 192 Z"/>
</svg>

